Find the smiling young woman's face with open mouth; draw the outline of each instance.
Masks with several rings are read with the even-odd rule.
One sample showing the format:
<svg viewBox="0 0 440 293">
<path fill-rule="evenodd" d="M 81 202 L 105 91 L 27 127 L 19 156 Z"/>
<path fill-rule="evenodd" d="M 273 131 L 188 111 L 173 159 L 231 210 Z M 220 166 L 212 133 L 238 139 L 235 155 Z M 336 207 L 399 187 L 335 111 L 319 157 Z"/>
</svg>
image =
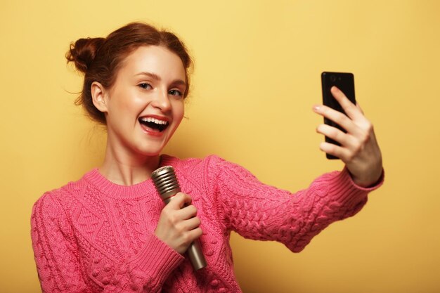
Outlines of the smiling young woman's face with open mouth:
<svg viewBox="0 0 440 293">
<path fill-rule="evenodd" d="M 141 46 L 122 62 L 105 95 L 108 140 L 127 155 L 155 156 L 183 118 L 186 72 L 162 46 Z"/>
</svg>

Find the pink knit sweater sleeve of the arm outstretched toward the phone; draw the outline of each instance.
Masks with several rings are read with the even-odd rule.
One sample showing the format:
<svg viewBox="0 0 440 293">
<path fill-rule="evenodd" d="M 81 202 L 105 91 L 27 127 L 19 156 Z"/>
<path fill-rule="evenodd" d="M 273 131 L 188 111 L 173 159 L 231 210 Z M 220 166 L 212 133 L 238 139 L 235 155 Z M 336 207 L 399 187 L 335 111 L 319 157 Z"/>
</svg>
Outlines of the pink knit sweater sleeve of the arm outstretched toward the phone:
<svg viewBox="0 0 440 293">
<path fill-rule="evenodd" d="M 254 240 L 276 240 L 300 252 L 334 221 L 356 214 L 372 188 L 356 185 L 347 171 L 316 178 L 297 193 L 265 185 L 246 169 L 212 157 L 209 176 L 214 185 L 219 219 L 225 228 Z"/>
</svg>

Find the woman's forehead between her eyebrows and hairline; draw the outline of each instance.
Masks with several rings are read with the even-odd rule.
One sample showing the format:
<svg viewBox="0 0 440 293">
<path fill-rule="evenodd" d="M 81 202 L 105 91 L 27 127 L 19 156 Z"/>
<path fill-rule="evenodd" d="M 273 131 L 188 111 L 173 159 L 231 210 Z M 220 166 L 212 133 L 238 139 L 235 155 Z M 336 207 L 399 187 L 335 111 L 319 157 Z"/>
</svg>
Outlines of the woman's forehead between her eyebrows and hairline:
<svg viewBox="0 0 440 293">
<path fill-rule="evenodd" d="M 120 74 L 128 76 L 141 72 L 159 75 L 162 79 L 186 78 L 186 71 L 181 58 L 163 46 L 140 46 L 122 61 Z"/>
</svg>

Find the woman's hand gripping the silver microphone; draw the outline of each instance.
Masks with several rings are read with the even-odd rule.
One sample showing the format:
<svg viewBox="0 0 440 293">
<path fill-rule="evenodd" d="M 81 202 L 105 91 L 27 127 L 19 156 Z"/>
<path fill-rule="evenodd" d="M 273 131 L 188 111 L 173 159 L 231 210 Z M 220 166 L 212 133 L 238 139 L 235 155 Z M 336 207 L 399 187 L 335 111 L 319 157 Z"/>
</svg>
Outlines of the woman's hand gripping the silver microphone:
<svg viewBox="0 0 440 293">
<path fill-rule="evenodd" d="M 177 193 L 162 209 L 155 230 L 157 238 L 169 247 L 183 254 L 190 244 L 202 235 L 197 209 L 190 204 L 191 197 Z"/>
</svg>

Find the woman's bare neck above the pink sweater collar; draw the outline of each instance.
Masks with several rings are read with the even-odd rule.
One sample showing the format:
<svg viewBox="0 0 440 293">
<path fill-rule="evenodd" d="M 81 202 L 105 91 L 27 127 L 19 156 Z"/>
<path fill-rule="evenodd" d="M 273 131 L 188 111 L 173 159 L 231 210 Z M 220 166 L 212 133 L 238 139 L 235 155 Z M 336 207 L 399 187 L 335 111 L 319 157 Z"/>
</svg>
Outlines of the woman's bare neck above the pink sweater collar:
<svg viewBox="0 0 440 293">
<path fill-rule="evenodd" d="M 104 162 L 99 171 L 112 183 L 134 185 L 148 180 L 159 164 L 160 155 L 127 155 L 118 153 L 107 145 Z"/>
</svg>

